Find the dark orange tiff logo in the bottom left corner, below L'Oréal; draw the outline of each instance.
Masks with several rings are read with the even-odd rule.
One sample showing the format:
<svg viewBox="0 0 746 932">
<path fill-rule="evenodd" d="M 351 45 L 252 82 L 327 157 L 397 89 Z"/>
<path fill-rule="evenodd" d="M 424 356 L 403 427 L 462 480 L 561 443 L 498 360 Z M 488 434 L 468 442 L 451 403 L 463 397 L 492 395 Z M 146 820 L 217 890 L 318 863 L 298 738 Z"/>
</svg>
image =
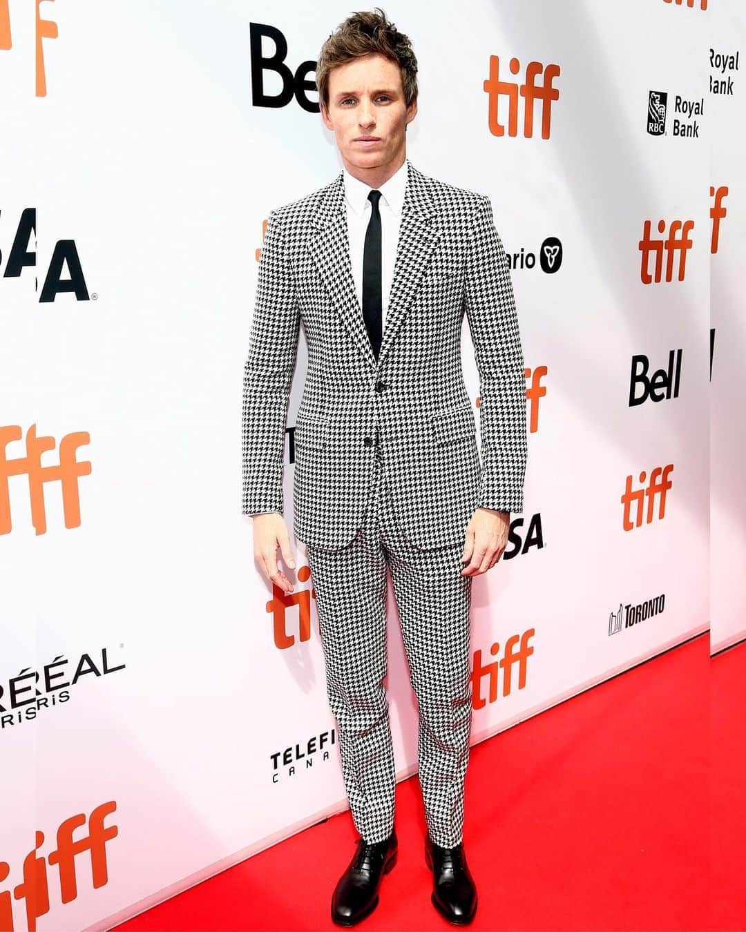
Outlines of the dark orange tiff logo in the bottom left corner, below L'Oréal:
<svg viewBox="0 0 746 932">
<path fill-rule="evenodd" d="M 36 921 L 48 913 L 51 902 L 71 903 L 79 888 L 88 890 L 92 886 L 97 890 L 108 884 L 106 843 L 117 838 L 119 829 L 116 825 L 104 826 L 104 820 L 116 811 L 117 803 L 112 800 L 96 806 L 90 816 L 76 813 L 64 819 L 58 829 L 50 832 L 56 847 L 48 855 L 41 852 L 44 832 L 36 829 L 34 847 L 22 864 L 11 868 L 7 861 L 0 860 L 0 929 L 35 929 Z M 86 827 L 88 833 L 78 834 L 74 840 L 76 829 L 81 827 Z M 0 850 L 0 857 L 2 854 Z M 47 870 L 47 865 L 56 870 Z M 14 899 L 19 909 L 23 904 L 25 925 L 13 925 Z"/>
</svg>

